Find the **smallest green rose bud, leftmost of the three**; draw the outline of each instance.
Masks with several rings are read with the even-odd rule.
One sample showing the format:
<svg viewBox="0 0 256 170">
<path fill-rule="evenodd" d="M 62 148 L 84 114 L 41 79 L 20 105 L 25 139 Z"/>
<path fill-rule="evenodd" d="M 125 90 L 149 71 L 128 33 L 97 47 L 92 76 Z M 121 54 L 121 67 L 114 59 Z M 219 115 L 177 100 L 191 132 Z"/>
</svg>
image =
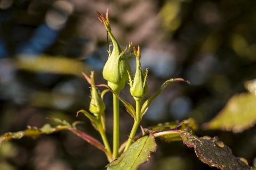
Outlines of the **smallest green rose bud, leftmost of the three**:
<svg viewBox="0 0 256 170">
<path fill-rule="evenodd" d="M 94 83 L 94 74 L 91 72 L 90 78 L 84 74 L 85 79 L 91 84 L 91 102 L 89 110 L 94 114 L 95 117 L 99 118 L 100 115 L 105 111 L 106 106 L 100 96 L 100 92 Z"/>
</svg>

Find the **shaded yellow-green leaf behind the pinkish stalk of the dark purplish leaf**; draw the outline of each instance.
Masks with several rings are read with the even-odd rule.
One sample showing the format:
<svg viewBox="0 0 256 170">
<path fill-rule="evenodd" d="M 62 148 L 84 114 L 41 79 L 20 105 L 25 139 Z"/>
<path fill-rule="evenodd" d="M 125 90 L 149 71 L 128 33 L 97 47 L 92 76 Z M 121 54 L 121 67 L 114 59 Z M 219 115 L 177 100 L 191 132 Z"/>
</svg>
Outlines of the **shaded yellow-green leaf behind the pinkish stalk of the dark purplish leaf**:
<svg viewBox="0 0 256 170">
<path fill-rule="evenodd" d="M 158 124 L 151 128 L 155 137 L 165 141 L 165 142 L 175 142 L 181 141 L 181 137 L 178 130 L 197 130 L 198 126 L 193 118 L 184 120 L 180 123 L 177 122 L 166 122 L 164 124 Z"/>
</svg>

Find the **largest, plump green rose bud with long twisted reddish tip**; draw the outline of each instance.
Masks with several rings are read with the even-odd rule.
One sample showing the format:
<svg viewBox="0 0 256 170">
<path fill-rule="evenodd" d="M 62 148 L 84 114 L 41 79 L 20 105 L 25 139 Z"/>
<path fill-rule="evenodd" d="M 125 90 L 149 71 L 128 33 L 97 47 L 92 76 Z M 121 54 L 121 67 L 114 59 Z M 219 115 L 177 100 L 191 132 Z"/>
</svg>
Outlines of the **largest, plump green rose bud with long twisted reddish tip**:
<svg viewBox="0 0 256 170">
<path fill-rule="evenodd" d="M 116 38 L 111 33 L 108 19 L 108 10 L 106 18 L 98 12 L 99 20 L 105 25 L 108 35 L 113 43 L 112 52 L 109 51 L 108 60 L 103 68 L 103 78 L 108 81 L 108 86 L 117 94 L 124 88 L 125 82 L 128 80 L 128 72 L 131 72 L 129 58 L 122 51 Z"/>
</svg>

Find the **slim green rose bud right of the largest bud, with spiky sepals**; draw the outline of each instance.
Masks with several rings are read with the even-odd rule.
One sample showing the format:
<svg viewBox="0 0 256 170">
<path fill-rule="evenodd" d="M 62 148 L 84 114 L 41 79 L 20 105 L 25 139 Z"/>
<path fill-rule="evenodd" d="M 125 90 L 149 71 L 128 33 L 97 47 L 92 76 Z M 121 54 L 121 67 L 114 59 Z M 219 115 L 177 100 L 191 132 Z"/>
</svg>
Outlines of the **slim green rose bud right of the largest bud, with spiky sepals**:
<svg viewBox="0 0 256 170">
<path fill-rule="evenodd" d="M 135 100 L 143 98 L 148 92 L 147 86 L 147 75 L 148 69 L 146 69 L 145 73 L 142 73 L 141 64 L 140 64 L 140 46 L 138 46 L 138 51 L 133 47 L 133 52 L 136 56 L 136 72 L 133 80 L 129 74 L 129 84 L 130 84 L 130 92 Z"/>
</svg>

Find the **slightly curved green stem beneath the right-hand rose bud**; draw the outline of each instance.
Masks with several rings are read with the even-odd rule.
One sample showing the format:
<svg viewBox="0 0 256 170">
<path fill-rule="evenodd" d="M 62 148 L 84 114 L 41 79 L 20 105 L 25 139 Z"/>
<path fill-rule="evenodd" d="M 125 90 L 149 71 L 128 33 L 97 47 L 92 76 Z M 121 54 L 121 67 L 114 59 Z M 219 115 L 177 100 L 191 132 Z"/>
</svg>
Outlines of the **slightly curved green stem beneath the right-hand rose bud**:
<svg viewBox="0 0 256 170">
<path fill-rule="evenodd" d="M 137 129 L 140 125 L 140 121 L 141 121 L 141 115 L 140 115 L 140 103 L 141 103 L 141 100 L 135 100 L 136 101 L 136 120 L 134 120 L 134 123 L 133 123 L 133 126 L 132 126 L 132 130 L 131 130 L 131 133 L 129 135 L 129 139 L 127 141 L 127 144 L 124 148 L 124 151 L 126 151 L 131 145 L 132 145 L 132 142 L 133 142 L 133 138 L 137 132 Z"/>
</svg>

